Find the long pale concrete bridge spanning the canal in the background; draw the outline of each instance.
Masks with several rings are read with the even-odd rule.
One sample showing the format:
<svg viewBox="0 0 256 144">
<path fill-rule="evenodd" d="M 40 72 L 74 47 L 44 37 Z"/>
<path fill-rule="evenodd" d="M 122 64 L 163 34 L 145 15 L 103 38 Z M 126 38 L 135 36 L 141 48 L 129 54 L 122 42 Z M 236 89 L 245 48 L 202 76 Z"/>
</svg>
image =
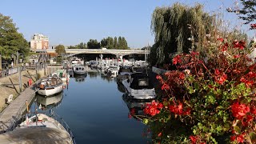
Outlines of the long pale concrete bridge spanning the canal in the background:
<svg viewBox="0 0 256 144">
<path fill-rule="evenodd" d="M 149 54 L 149 50 L 104 50 L 104 49 L 65 49 L 66 50 L 66 56 L 65 57 L 71 57 L 76 54 L 114 54 L 117 57 L 122 57 L 124 55 L 129 54 Z M 35 50 L 37 53 L 55 53 L 54 49 L 48 49 L 48 50 Z"/>
</svg>

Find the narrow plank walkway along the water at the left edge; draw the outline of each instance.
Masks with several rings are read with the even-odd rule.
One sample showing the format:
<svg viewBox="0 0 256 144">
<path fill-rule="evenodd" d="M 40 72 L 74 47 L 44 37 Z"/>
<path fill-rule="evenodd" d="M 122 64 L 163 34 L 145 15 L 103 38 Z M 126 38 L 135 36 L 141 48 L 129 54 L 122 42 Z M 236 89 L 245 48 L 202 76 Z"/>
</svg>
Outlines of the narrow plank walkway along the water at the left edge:
<svg viewBox="0 0 256 144">
<path fill-rule="evenodd" d="M 12 130 L 22 114 L 26 111 L 26 101 L 33 102 L 36 84 L 26 88 L 5 110 L 0 114 L 0 134 L 6 130 Z"/>
</svg>

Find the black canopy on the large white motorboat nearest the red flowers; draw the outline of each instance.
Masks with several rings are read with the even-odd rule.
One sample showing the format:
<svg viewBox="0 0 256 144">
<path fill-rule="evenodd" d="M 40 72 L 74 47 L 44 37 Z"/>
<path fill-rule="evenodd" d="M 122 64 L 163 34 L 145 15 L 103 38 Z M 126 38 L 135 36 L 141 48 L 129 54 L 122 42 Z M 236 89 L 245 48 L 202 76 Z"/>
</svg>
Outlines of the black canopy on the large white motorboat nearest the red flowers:
<svg viewBox="0 0 256 144">
<path fill-rule="evenodd" d="M 134 73 L 130 74 L 130 88 L 134 90 L 142 90 L 142 89 L 153 89 L 154 86 L 150 82 L 150 78 L 144 73 Z"/>
</svg>

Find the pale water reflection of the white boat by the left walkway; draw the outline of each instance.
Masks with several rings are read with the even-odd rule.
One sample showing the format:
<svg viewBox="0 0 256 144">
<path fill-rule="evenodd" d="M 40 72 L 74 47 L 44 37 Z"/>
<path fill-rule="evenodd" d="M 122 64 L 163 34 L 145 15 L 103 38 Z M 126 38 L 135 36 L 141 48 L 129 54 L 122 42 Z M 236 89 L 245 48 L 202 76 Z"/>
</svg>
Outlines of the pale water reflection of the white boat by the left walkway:
<svg viewBox="0 0 256 144">
<path fill-rule="evenodd" d="M 44 97 L 41 95 L 37 95 L 37 103 L 38 106 L 41 105 L 42 109 L 51 109 L 55 106 L 58 106 L 62 102 L 63 93 L 58 95 L 54 95 L 52 97 Z"/>
</svg>

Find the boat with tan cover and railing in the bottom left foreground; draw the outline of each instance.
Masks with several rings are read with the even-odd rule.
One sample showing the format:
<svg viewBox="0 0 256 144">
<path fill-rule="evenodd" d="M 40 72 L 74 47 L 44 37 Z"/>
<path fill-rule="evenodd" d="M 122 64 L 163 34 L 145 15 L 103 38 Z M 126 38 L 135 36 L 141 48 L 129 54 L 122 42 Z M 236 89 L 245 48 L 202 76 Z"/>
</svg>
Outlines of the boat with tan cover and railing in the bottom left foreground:
<svg viewBox="0 0 256 144">
<path fill-rule="evenodd" d="M 25 121 L 23 121 L 25 120 Z M 63 126 L 62 126 L 63 124 Z M 70 127 L 57 114 L 26 114 L 14 130 L 0 134 L 1 144 L 66 143 L 75 144 Z"/>
</svg>

